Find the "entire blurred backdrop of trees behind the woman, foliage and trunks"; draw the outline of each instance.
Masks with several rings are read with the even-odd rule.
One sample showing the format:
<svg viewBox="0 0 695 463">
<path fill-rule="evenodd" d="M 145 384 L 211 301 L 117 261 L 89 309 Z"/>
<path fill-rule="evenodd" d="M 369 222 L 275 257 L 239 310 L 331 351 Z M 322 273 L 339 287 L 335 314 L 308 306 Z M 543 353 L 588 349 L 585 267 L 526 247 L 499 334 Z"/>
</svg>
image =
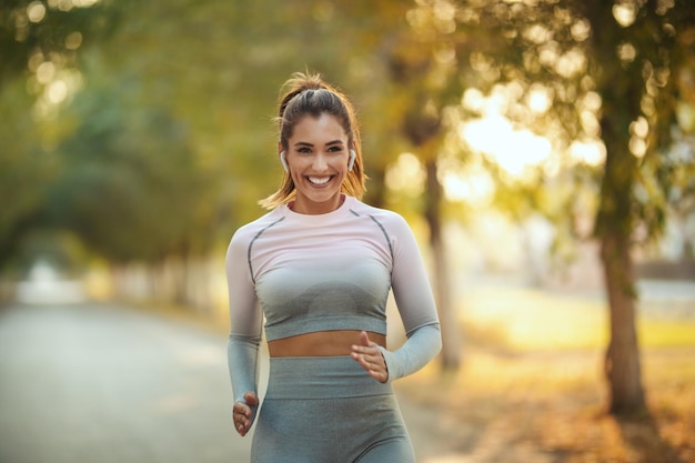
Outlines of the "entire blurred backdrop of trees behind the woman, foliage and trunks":
<svg viewBox="0 0 695 463">
<path fill-rule="evenodd" d="M 600 243 L 610 407 L 642 409 L 634 256 L 674 223 L 693 259 L 694 23 L 685 0 L 4 1 L 0 266 L 216 310 L 219 258 L 279 182 L 278 88 L 319 71 L 359 107 L 367 202 L 427 236 L 443 365 L 447 230 L 494 209 L 552 225 L 560 260 Z"/>
</svg>

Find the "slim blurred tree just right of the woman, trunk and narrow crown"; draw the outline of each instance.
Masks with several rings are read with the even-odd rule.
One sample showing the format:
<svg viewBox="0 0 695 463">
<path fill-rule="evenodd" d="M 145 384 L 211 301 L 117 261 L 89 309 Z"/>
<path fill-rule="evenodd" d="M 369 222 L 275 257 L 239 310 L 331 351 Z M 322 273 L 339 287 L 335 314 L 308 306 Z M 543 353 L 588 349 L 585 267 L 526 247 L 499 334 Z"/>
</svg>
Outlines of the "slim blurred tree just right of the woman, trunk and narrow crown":
<svg viewBox="0 0 695 463">
<path fill-rule="evenodd" d="M 444 3 L 440 3 L 440 7 Z M 449 6 L 449 3 L 446 3 Z M 450 6 L 451 7 L 451 6 Z M 437 20 L 434 7 L 426 2 L 404 11 L 407 29 L 399 30 L 385 47 L 387 76 L 391 79 L 392 108 L 396 112 L 397 135 L 405 139 L 419 157 L 425 173 L 420 214 L 429 232 L 432 254 L 433 290 L 442 322 L 442 368 L 455 371 L 461 365 L 461 329 L 452 298 L 453 289 L 444 240 L 444 198 L 439 162 L 447 130 L 444 111 L 461 98 L 455 61 L 447 59 L 451 43 L 447 27 L 451 17 Z M 453 9 L 447 11 L 453 12 Z M 445 14 L 446 16 L 446 14 Z"/>
</svg>

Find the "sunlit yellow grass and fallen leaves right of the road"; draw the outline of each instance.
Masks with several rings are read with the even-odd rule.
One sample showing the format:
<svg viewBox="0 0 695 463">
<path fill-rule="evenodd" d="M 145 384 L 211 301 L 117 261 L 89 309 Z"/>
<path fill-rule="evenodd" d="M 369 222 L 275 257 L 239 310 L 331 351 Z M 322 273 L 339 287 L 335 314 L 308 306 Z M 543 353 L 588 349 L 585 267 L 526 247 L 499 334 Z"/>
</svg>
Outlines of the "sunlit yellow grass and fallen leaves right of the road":
<svg viewBox="0 0 695 463">
<path fill-rule="evenodd" d="M 432 445 L 447 452 L 425 455 L 427 463 L 695 462 L 689 295 L 641 302 L 648 410 L 623 419 L 605 413 L 607 313 L 600 296 L 476 289 L 465 304 L 461 371 L 442 379 L 434 365 L 396 383 L 436 411 Z"/>
</svg>

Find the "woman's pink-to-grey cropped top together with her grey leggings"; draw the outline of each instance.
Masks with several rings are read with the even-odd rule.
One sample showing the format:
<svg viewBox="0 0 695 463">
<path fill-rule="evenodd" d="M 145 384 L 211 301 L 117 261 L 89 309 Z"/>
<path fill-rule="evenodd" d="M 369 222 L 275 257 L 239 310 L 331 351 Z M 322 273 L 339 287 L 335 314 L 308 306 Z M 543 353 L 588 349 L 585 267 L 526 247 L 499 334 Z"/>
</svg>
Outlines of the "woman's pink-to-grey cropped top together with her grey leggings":
<svg viewBox="0 0 695 463">
<path fill-rule="evenodd" d="M 414 462 L 391 382 L 441 349 L 425 268 L 405 220 L 345 197 L 326 214 L 280 205 L 234 233 L 226 254 L 235 401 L 258 391 L 268 341 L 333 330 L 386 334 L 393 290 L 406 342 L 381 349 L 389 381 L 346 356 L 271 358 L 252 443 L 254 463 Z"/>
</svg>

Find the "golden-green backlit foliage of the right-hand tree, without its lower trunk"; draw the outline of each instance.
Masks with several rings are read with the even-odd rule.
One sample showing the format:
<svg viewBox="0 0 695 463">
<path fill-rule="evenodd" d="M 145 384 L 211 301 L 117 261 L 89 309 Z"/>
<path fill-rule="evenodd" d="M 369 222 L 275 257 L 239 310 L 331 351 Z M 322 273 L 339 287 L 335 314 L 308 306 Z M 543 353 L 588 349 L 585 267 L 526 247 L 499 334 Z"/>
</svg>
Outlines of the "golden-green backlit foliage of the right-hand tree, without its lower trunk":
<svg viewBox="0 0 695 463">
<path fill-rule="evenodd" d="M 695 24 L 687 2 L 421 1 L 409 19 L 416 51 L 403 51 L 392 70 L 396 81 L 411 82 L 407 94 L 420 111 L 426 103 L 429 114 L 441 117 L 446 105 L 456 108 L 459 118 L 450 125 L 454 130 L 459 121 L 483 115 L 465 98 L 460 104 L 461 93 L 449 93 L 460 89 L 456 80 L 462 80 L 467 91 L 504 94 L 503 114 L 552 140 L 561 155 L 550 169 L 520 178 L 487 163 L 496 205 L 516 220 L 541 211 L 556 224 L 573 228 L 574 221 L 563 215 L 586 204 L 597 207 L 598 201 L 583 199 L 593 191 L 601 198 L 598 235 L 608 228 L 638 239 L 634 230 L 642 228 L 647 231 L 642 238 L 658 236 L 666 209 L 689 188 L 678 179 L 692 161 L 673 162 L 669 154 L 682 94 L 675 77 L 693 46 L 686 39 Z M 422 90 L 413 98 L 417 85 Z M 528 101 L 540 91 L 550 103 L 532 110 Z M 425 95 L 425 103 L 417 94 Z M 436 133 L 419 135 L 426 118 L 405 120 L 405 132 L 415 144 Z M 605 164 L 583 164 L 566 154 L 573 142 L 591 140 L 605 145 Z M 642 141 L 645 151 L 633 152 Z M 466 147 L 460 150 L 461 157 L 472 154 Z M 538 201 L 547 189 L 557 193 L 554 201 Z"/>
</svg>

